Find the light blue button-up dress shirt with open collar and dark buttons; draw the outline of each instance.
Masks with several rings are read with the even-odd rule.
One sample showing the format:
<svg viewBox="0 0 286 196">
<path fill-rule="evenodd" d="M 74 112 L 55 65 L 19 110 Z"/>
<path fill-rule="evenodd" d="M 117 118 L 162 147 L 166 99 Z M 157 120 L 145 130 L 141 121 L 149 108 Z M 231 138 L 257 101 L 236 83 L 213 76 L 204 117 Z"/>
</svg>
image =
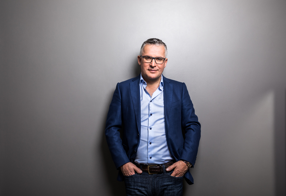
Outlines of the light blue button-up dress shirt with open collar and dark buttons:
<svg viewBox="0 0 286 196">
<path fill-rule="evenodd" d="M 140 74 L 141 137 L 135 162 L 144 165 L 163 164 L 171 161 L 165 131 L 163 76 L 152 97 L 146 90 L 147 83 Z"/>
</svg>

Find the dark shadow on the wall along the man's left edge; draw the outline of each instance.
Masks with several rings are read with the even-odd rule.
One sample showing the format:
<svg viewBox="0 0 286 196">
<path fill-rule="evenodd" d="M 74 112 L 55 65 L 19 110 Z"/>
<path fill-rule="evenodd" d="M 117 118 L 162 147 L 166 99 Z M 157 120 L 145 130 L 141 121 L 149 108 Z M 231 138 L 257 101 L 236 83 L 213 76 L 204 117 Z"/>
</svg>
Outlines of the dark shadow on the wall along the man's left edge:
<svg viewBox="0 0 286 196">
<path fill-rule="evenodd" d="M 136 77 L 141 73 L 141 68 L 138 65 L 137 58 L 134 60 L 134 62 L 132 64 L 133 64 L 133 74 L 134 74 L 133 77 Z M 118 82 L 121 82 L 121 81 L 118 81 Z M 115 88 L 115 86 L 114 86 L 114 88 Z M 108 97 L 106 97 L 106 99 L 108 99 L 108 102 L 107 102 L 107 105 L 105 108 L 105 115 L 104 115 L 105 117 L 107 117 L 107 113 L 108 113 L 109 105 L 110 105 L 111 100 L 112 100 L 113 92 L 114 91 L 111 91 L 109 93 Z M 105 130 L 105 123 L 106 123 L 105 121 L 106 121 L 106 118 L 102 122 L 100 130 Z M 102 152 L 102 156 L 103 156 L 102 158 L 104 160 L 104 170 L 105 170 L 104 173 L 107 174 L 107 179 L 108 179 L 107 184 L 110 187 L 112 195 L 114 195 L 114 196 L 126 195 L 124 182 L 119 182 L 116 180 L 117 175 L 118 175 L 118 170 L 116 169 L 114 162 L 111 158 L 111 154 L 110 154 L 110 151 L 108 149 L 108 145 L 106 142 L 106 137 L 105 137 L 104 131 L 102 131 L 102 136 L 101 136 L 101 152 Z"/>
</svg>

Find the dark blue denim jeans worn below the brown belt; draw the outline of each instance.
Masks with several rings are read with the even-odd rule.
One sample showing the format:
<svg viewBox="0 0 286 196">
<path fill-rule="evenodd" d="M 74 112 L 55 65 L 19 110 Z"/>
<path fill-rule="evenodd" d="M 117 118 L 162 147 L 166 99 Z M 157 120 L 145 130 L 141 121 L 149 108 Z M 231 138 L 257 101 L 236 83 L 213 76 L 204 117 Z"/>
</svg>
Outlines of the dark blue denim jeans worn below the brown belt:
<svg viewBox="0 0 286 196">
<path fill-rule="evenodd" d="M 182 196 L 183 176 L 173 177 L 172 171 L 161 174 L 135 173 L 131 176 L 124 176 L 127 196 Z"/>
</svg>

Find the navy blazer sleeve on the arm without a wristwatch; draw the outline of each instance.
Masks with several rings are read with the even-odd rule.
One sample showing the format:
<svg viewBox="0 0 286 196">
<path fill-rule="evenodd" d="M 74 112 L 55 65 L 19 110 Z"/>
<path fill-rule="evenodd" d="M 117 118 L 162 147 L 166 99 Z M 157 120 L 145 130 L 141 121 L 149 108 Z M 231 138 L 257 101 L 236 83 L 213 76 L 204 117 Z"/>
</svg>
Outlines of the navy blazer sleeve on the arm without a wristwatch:
<svg viewBox="0 0 286 196">
<path fill-rule="evenodd" d="M 121 115 L 121 95 L 119 83 L 117 83 L 116 89 L 113 93 L 112 101 L 109 106 L 105 125 L 106 141 L 111 153 L 112 160 L 114 161 L 117 169 L 119 169 L 121 165 L 130 162 L 126 155 L 126 151 L 122 146 L 122 140 L 120 139 L 119 131 L 122 128 Z"/>
</svg>

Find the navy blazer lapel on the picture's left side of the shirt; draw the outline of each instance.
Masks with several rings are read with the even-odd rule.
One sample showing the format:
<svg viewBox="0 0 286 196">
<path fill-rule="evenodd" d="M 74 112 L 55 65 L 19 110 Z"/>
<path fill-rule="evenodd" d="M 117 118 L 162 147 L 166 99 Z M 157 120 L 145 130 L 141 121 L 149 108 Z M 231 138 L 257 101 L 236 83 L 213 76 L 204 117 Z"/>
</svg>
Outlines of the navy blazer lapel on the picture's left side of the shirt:
<svg viewBox="0 0 286 196">
<path fill-rule="evenodd" d="M 130 93 L 139 134 L 141 134 L 140 75 L 130 82 Z"/>
</svg>

